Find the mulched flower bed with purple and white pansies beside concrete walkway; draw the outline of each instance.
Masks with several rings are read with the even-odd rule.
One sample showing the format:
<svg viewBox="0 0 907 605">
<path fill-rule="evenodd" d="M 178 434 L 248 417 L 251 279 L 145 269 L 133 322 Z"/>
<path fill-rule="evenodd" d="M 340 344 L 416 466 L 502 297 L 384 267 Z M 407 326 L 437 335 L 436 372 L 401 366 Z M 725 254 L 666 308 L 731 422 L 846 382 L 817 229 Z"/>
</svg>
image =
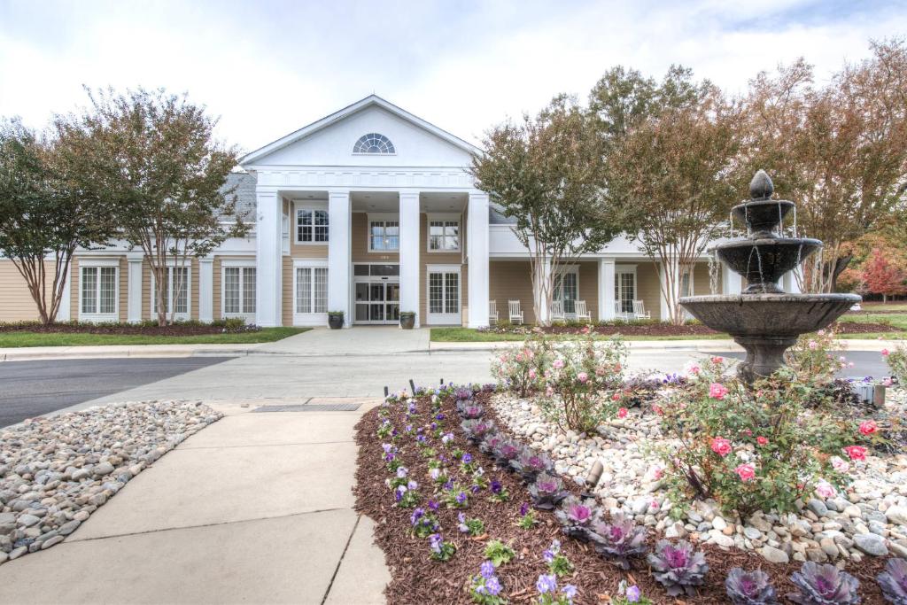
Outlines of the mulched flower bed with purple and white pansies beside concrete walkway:
<svg viewBox="0 0 907 605">
<path fill-rule="evenodd" d="M 728 602 L 725 581 L 737 567 L 764 571 L 764 580 L 774 585 L 778 595 L 798 590 L 792 577 L 801 580 L 801 591 L 809 590 L 811 570 L 802 570 L 799 562 L 771 563 L 756 552 L 726 550 L 692 536 L 692 551 L 685 552 L 677 540 L 659 544 L 665 536 L 654 528 L 641 530 L 644 536 L 637 535 L 627 550 L 629 555 L 621 558 L 614 555 L 613 551 L 623 548 L 615 541 L 619 542 L 619 534 L 632 532 L 610 526 L 627 522 L 626 518 L 606 510 L 602 521 L 610 526 L 597 525 L 591 517 L 599 514 L 598 507 L 580 510 L 576 506 L 584 503 L 572 498 L 558 503 L 554 511 L 532 509 L 530 488 L 532 493 L 540 488 L 538 483 L 527 484 L 524 477 L 531 476 L 532 465 L 539 462 L 533 462 L 531 454 L 540 452 L 522 449 L 533 444 L 529 440 L 511 441 L 518 435 L 507 430 L 507 420 L 495 412 L 491 393 L 464 394 L 456 397 L 453 389 L 447 389 L 441 396 L 428 394 L 414 400 L 392 397 L 356 426 L 356 506 L 375 519 L 375 540 L 391 566 L 388 602 L 626 602 L 621 599 L 635 598 L 636 590 L 652 602 L 673 602 L 668 591 L 681 590 L 690 593 L 687 602 L 719 603 Z M 467 400 L 459 410 L 457 398 Z M 468 441 L 461 414 L 481 415 L 480 422 L 465 424 L 472 434 L 482 432 L 476 424 L 493 421 L 498 427 L 497 441 L 485 439 L 485 452 Z M 507 464 L 510 470 L 504 470 L 495 467 L 495 461 L 514 464 Z M 543 458 L 540 464 L 545 465 Z M 574 481 L 563 481 L 563 489 L 572 497 L 580 496 L 580 486 Z M 530 515 L 534 523 L 527 520 Z M 638 523 L 637 527 L 647 526 Z M 561 542 L 560 552 L 551 548 L 555 540 Z M 659 556 L 639 556 L 647 551 Z M 700 555 L 694 551 L 701 552 L 703 561 L 696 561 Z M 493 569 L 483 566 L 491 559 L 499 564 Z M 668 568 L 680 559 L 694 563 L 685 567 L 688 585 L 666 577 L 677 579 L 676 570 Z M 859 564 L 848 561 L 846 571 L 860 582 L 858 591 L 864 603 L 884 602 L 875 580 L 884 564 L 882 558 L 863 559 Z M 567 571 L 568 567 L 573 571 Z M 558 577 L 554 570 L 563 575 Z M 801 572 L 805 580 L 794 575 Z M 846 585 L 852 582 L 848 578 L 835 581 Z M 745 580 L 741 585 L 748 585 Z M 621 583 L 637 588 L 621 596 Z M 551 589 L 552 584 L 557 588 Z M 569 586 L 575 589 L 566 588 Z"/>
</svg>

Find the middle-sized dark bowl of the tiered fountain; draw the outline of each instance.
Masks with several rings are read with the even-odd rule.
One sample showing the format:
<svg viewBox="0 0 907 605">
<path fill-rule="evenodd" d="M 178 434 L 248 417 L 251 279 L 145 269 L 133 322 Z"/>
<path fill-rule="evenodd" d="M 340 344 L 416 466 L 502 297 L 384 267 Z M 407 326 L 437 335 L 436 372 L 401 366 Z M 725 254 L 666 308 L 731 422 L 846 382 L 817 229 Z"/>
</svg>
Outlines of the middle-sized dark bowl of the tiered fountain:
<svg viewBox="0 0 907 605">
<path fill-rule="evenodd" d="M 762 238 L 728 241 L 716 247 L 718 258 L 746 278 L 746 294 L 782 292 L 775 282 L 796 268 L 822 242 L 808 238 Z"/>
</svg>

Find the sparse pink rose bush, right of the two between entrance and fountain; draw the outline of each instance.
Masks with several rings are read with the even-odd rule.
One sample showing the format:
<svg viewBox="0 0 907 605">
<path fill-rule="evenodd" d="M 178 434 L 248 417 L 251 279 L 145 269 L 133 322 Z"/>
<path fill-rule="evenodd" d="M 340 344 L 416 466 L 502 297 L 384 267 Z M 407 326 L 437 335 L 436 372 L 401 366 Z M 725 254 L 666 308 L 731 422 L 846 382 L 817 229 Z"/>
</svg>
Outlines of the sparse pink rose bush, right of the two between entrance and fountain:
<svg viewBox="0 0 907 605">
<path fill-rule="evenodd" d="M 545 377 L 542 414 L 564 431 L 595 430 L 617 411 L 626 357 L 619 337 L 601 343 L 589 335 L 558 347 Z"/>
</svg>

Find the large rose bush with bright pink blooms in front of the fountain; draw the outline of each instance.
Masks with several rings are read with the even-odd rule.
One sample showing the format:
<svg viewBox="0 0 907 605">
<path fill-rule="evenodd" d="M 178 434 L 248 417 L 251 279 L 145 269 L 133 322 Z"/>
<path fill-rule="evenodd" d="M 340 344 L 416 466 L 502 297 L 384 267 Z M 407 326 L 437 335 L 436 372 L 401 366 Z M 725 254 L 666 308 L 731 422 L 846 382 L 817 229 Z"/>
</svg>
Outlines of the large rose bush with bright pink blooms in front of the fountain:
<svg viewBox="0 0 907 605">
<path fill-rule="evenodd" d="M 865 440 L 872 425 L 861 433 L 827 397 L 827 405 L 807 410 L 819 389 L 793 370 L 783 368 L 753 389 L 724 370 L 721 360 L 708 361 L 662 405 L 661 431 L 672 444 L 659 451 L 676 510 L 693 496 L 742 514 L 789 512 L 817 486 L 834 493 L 846 471 L 834 456 L 861 459 L 865 448 L 854 442 Z"/>
</svg>

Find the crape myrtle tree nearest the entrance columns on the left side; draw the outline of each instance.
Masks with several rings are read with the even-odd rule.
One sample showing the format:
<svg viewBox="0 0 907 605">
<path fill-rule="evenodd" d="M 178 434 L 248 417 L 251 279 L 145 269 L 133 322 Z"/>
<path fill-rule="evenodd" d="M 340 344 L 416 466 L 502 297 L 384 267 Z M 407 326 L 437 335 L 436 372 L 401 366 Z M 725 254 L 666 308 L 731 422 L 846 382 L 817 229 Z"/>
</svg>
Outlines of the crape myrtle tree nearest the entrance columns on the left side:
<svg viewBox="0 0 907 605">
<path fill-rule="evenodd" d="M 191 259 L 248 232 L 235 189 L 224 188 L 237 152 L 214 140 L 217 121 L 185 94 L 140 88 L 88 95 L 91 105 L 58 118 L 57 129 L 80 141 L 83 181 L 111 202 L 120 237 L 143 252 L 164 326 L 188 288 Z"/>
</svg>

